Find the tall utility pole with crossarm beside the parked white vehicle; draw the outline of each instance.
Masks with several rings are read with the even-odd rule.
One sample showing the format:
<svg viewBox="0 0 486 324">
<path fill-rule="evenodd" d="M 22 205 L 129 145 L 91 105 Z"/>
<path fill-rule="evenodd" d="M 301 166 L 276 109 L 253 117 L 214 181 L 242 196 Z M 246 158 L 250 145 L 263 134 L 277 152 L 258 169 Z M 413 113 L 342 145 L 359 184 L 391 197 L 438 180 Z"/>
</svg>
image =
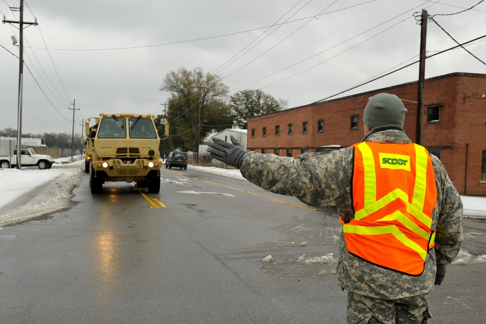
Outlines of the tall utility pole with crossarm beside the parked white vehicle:
<svg viewBox="0 0 486 324">
<path fill-rule="evenodd" d="M 12 8 L 11 8 L 12 9 Z M 19 21 L 15 20 L 5 20 L 5 17 L 3 18 L 2 22 L 3 23 L 10 23 L 10 24 L 18 24 L 18 30 L 20 32 L 19 35 L 19 45 L 18 45 L 18 51 L 19 51 L 19 63 L 18 63 L 18 99 L 17 99 L 17 169 L 21 169 L 20 165 L 20 149 L 21 149 L 21 138 L 22 138 L 22 81 L 23 81 L 23 69 L 24 69 L 24 34 L 23 34 L 23 29 L 24 29 L 24 24 L 26 25 L 35 25 L 37 26 L 37 19 L 35 19 L 35 22 L 25 22 L 24 21 L 24 2 L 23 0 L 20 0 L 20 8 L 18 8 L 20 11 L 20 19 Z"/>
</svg>

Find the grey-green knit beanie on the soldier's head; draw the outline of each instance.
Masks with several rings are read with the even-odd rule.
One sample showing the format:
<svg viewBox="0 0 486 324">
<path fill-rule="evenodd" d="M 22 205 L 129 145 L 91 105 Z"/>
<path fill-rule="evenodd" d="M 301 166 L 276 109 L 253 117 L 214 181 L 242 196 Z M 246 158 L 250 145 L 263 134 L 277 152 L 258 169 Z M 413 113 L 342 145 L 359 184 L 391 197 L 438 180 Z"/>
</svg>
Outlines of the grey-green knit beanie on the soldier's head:
<svg viewBox="0 0 486 324">
<path fill-rule="evenodd" d="M 405 113 L 408 110 L 401 100 L 389 93 L 379 93 L 370 97 L 364 108 L 363 122 L 373 129 L 379 126 L 398 126 L 403 128 Z"/>
</svg>

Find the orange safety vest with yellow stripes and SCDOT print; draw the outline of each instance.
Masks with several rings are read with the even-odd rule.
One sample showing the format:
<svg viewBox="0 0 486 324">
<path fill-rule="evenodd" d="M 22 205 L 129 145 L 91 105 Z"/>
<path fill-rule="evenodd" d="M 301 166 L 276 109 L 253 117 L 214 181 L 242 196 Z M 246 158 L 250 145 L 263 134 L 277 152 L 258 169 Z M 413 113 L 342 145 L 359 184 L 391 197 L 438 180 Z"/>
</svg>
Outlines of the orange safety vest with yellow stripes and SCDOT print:
<svg viewBox="0 0 486 324">
<path fill-rule="evenodd" d="M 343 223 L 349 253 L 400 273 L 420 275 L 434 247 L 437 188 L 428 151 L 417 144 L 353 145 L 354 219 Z"/>
</svg>

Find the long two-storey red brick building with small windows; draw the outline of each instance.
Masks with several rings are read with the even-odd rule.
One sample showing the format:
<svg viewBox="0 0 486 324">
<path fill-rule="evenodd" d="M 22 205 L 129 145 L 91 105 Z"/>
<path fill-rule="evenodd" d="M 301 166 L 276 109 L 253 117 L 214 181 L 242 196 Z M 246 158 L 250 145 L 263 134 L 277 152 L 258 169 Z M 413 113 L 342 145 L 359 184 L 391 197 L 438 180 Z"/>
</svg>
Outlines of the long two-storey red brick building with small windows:
<svg viewBox="0 0 486 324">
<path fill-rule="evenodd" d="M 397 95 L 408 109 L 404 129 L 416 141 L 417 82 L 248 119 L 247 148 L 297 157 L 347 147 L 364 137 L 368 98 Z M 451 73 L 425 80 L 422 145 L 437 155 L 459 193 L 486 196 L 486 74 Z"/>
</svg>

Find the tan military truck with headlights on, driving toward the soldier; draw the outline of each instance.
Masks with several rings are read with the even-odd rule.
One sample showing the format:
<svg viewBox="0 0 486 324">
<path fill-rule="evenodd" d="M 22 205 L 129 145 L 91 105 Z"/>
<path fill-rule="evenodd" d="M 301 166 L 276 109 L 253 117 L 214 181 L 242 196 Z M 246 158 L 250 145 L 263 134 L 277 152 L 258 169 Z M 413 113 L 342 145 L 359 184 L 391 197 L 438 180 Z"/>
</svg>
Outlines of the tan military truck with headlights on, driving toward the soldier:
<svg viewBox="0 0 486 324">
<path fill-rule="evenodd" d="M 165 139 L 169 125 L 165 119 L 160 123 Z M 107 181 L 136 182 L 150 193 L 160 191 L 161 138 L 151 115 L 100 114 L 87 119 L 85 131 L 85 171 L 91 193 L 102 193 Z"/>
</svg>

